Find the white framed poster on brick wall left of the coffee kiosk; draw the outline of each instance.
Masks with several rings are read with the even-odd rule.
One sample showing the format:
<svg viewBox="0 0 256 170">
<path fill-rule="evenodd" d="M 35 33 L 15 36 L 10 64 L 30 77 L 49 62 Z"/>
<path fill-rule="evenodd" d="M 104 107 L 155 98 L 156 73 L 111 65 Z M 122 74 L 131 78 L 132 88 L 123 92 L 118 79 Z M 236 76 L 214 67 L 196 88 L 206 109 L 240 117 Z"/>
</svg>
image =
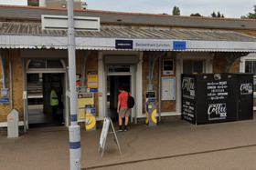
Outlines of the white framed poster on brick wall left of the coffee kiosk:
<svg viewBox="0 0 256 170">
<path fill-rule="evenodd" d="M 162 77 L 162 100 L 176 100 L 176 77 Z"/>
</svg>

